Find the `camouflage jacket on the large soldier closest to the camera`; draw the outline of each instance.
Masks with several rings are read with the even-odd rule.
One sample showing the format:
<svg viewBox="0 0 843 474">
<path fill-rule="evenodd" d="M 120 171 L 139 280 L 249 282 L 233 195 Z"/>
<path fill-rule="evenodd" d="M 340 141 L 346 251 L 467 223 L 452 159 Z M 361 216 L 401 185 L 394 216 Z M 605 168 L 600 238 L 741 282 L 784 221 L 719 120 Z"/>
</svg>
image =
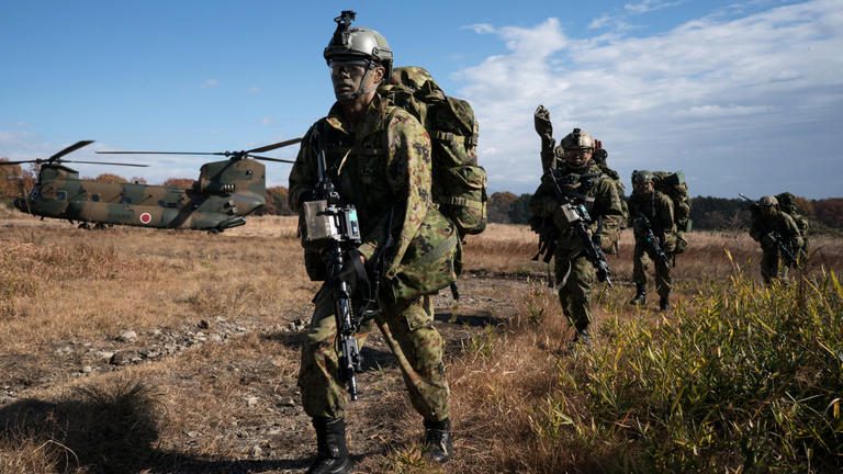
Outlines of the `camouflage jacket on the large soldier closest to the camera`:
<svg viewBox="0 0 843 474">
<path fill-rule="evenodd" d="M 423 222 L 447 222 L 430 204 L 427 131 L 407 112 L 378 95 L 355 127 L 335 103 L 328 115 L 307 131 L 290 171 L 290 208 L 295 211 L 301 210 L 302 198 L 317 182 L 318 168 L 311 147 L 314 127 L 322 131 L 328 174 L 344 204 L 357 208 L 360 252 L 371 260 L 385 246 L 389 234 L 394 237 L 393 248 L 384 256 L 389 274 L 406 253 L 416 251 L 411 241 Z"/>
</svg>

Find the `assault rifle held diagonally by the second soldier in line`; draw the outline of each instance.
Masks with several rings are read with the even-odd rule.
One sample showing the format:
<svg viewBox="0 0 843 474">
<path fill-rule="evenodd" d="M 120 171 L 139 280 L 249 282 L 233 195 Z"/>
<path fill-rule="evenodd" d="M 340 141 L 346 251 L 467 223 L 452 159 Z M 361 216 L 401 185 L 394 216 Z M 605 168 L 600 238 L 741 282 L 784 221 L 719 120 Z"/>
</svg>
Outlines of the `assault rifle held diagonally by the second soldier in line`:
<svg viewBox="0 0 843 474">
<path fill-rule="evenodd" d="M 592 232 L 588 228 L 594 221 L 585 208 L 585 196 L 581 194 L 572 195 L 573 193 L 563 191 L 557 180 L 555 172 L 552 169 L 547 172 L 542 179 L 548 180 L 553 184 L 557 202 L 561 203 L 559 208 L 564 213 L 565 219 L 580 237 L 580 240 L 583 244 L 585 258 L 588 259 L 597 271 L 597 281 L 606 282 L 611 286 L 611 269 L 606 262 L 606 256 L 600 249 L 599 239 L 593 237 Z M 540 255 L 544 255 L 543 261 L 549 262 L 553 257 L 553 251 L 557 248 L 559 237 L 559 230 L 555 226 L 546 225 L 544 229 L 539 235 L 539 252 L 533 257 L 533 260 L 538 260 Z"/>
</svg>

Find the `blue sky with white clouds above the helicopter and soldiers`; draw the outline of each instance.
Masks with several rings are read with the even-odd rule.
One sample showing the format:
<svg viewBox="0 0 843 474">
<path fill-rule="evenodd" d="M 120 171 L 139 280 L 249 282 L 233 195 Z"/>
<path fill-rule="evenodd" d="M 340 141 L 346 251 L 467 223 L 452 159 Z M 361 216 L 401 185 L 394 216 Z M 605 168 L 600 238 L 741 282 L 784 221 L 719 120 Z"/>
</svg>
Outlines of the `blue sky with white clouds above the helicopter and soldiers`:
<svg viewBox="0 0 843 474">
<path fill-rule="evenodd" d="M 340 10 L 397 65 L 428 68 L 481 123 L 492 191 L 532 192 L 538 104 L 592 132 L 629 189 L 682 169 L 694 195 L 843 195 L 843 2 L 0 2 L 0 157 L 97 149 L 222 151 L 301 136 L 333 94 L 322 49 Z M 290 158 L 294 147 L 273 156 Z M 201 157 L 133 157 L 149 182 Z M 267 165 L 270 185 L 289 166 Z"/>
</svg>

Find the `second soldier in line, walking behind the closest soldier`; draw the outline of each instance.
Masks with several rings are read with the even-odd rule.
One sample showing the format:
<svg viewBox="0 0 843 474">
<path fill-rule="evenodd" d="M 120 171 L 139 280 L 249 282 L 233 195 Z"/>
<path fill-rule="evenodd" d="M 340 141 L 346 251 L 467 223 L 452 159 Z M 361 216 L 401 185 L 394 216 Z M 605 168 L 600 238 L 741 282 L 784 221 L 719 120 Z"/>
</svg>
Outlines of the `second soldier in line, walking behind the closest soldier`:
<svg viewBox="0 0 843 474">
<path fill-rule="evenodd" d="M 557 162 L 542 178 L 530 200 L 535 218 L 552 225 L 558 232 L 553 258 L 559 301 L 562 312 L 576 329 L 575 341 L 589 342 L 592 321 L 589 293 L 595 269 L 585 257 L 584 244 L 570 225 L 555 189 L 584 204 L 594 219 L 591 233 L 604 251 L 609 251 L 618 238 L 625 218 L 621 200 L 611 179 L 592 162 L 594 138 L 580 128 L 567 134 L 561 143 L 564 160 Z"/>
</svg>

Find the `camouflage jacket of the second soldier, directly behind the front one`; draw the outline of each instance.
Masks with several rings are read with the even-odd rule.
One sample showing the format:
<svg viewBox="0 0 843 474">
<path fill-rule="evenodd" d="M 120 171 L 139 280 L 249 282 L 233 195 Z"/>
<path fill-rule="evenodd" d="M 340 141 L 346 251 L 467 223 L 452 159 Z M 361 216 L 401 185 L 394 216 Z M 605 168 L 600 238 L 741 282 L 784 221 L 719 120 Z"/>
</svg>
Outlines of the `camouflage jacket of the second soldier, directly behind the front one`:
<svg viewBox="0 0 843 474">
<path fill-rule="evenodd" d="M 583 198 L 582 201 L 585 202 L 588 214 L 594 221 L 591 230 L 599 237 L 604 250 L 609 250 L 617 241 L 618 233 L 626 218 L 618 189 L 611 178 L 594 163 L 589 163 L 584 169 L 575 169 L 560 162 L 559 168 L 550 172 L 557 178 L 563 192 Z M 550 176 L 546 174 L 530 199 L 530 211 L 533 217 L 550 222 L 560 230 L 557 255 L 576 253 L 582 250 L 583 244 L 559 210 L 560 204 L 555 184 Z"/>
</svg>

